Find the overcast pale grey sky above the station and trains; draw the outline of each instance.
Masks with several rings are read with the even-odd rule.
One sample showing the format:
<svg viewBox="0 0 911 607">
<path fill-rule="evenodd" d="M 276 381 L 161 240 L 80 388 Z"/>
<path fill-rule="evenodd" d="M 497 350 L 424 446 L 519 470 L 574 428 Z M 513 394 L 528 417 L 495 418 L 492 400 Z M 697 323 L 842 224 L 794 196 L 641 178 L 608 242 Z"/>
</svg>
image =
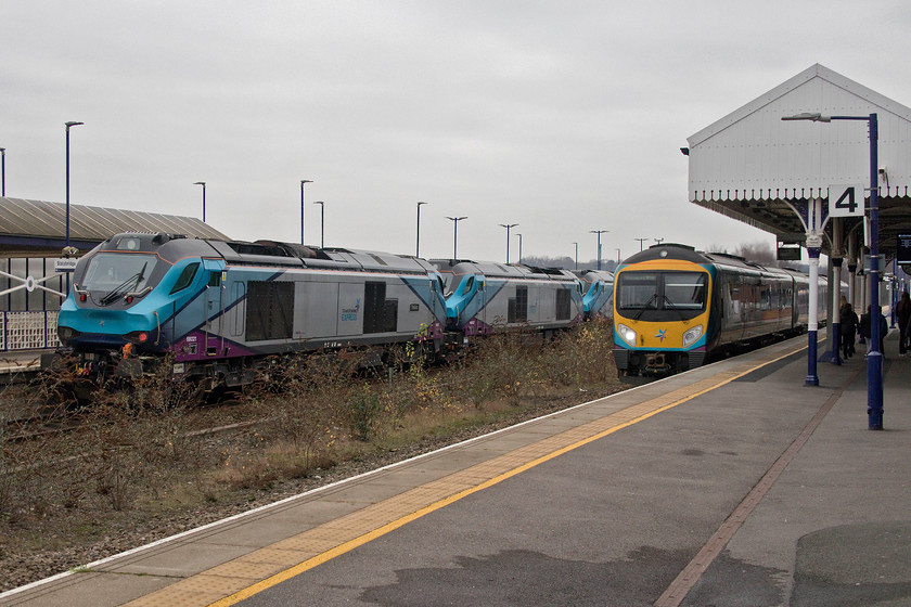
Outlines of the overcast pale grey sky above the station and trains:
<svg viewBox="0 0 911 607">
<path fill-rule="evenodd" d="M 512 260 L 768 242 L 688 202 L 687 137 L 822 65 L 911 105 L 911 3 L 0 3 L 7 195 L 242 240 Z M 871 38 L 876 38 L 871 41 Z"/>
</svg>

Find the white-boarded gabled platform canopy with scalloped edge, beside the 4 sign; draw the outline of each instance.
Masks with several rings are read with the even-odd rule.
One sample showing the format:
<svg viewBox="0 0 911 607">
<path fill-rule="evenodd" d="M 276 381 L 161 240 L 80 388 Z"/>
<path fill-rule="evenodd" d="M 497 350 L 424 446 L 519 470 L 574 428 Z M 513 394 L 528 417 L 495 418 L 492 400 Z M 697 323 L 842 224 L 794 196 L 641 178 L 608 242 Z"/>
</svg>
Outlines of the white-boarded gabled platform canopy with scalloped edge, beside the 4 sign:
<svg viewBox="0 0 911 607">
<path fill-rule="evenodd" d="M 868 122 L 782 121 L 801 113 L 877 114 L 880 251 L 890 259 L 897 234 L 911 233 L 911 108 L 819 64 L 687 139 L 690 202 L 800 244 L 806 233 L 786 202 L 822 198 L 827 208 L 831 185 L 856 183 L 868 189 L 869 209 Z M 843 242 L 863 244 L 862 223 L 841 221 Z M 827 254 L 833 224 L 822 246 Z"/>
</svg>

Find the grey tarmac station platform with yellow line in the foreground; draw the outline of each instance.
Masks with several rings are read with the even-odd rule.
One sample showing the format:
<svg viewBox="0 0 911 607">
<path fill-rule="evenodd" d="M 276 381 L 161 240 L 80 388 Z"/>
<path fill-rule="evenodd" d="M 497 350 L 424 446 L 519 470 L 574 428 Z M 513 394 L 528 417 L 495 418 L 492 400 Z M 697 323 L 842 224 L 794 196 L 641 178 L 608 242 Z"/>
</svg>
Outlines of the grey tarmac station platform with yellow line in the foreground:
<svg viewBox="0 0 911 607">
<path fill-rule="evenodd" d="M 10 591 L 0 605 L 911 605 L 911 358 L 807 337 Z"/>
</svg>

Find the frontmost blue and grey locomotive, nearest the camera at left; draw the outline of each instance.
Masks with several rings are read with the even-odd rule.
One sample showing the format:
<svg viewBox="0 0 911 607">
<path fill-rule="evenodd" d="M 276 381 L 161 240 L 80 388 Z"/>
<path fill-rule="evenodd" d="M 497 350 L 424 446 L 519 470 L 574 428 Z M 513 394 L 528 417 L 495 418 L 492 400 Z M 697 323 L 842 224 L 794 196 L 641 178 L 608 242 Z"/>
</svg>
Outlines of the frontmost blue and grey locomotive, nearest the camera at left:
<svg viewBox="0 0 911 607">
<path fill-rule="evenodd" d="M 82 257 L 57 332 L 86 375 L 147 371 L 235 386 L 268 354 L 419 341 L 439 348 L 446 302 L 413 257 L 258 241 L 118 234 Z"/>
</svg>

